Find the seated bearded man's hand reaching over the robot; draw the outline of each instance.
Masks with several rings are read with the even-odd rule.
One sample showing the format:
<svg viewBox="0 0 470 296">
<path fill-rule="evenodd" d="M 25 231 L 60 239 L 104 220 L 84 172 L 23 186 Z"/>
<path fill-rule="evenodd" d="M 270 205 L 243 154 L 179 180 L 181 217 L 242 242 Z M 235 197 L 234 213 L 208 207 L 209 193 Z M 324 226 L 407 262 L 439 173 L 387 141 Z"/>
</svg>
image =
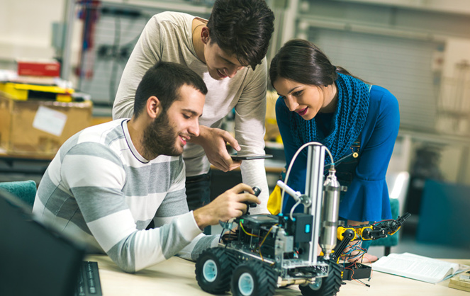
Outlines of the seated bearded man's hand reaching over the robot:
<svg viewBox="0 0 470 296">
<path fill-rule="evenodd" d="M 249 193 L 245 193 L 247 191 Z M 219 220 L 227 221 L 235 217 L 240 217 L 247 211 L 246 203 L 261 203 L 253 195 L 250 186 L 240 183 L 237 186 L 225 191 L 208 205 L 194 210 L 194 219 L 200 229 L 208 225 L 216 225 Z"/>
</svg>

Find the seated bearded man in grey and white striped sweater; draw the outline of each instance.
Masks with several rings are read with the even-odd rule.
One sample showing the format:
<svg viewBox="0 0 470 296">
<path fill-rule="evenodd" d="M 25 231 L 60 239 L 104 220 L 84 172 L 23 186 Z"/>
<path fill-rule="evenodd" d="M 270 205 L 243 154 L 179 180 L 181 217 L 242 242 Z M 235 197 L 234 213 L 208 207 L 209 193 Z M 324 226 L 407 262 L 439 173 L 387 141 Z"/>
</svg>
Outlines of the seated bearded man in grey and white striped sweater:
<svg viewBox="0 0 470 296">
<path fill-rule="evenodd" d="M 191 69 L 159 62 L 142 77 L 130 119 L 72 136 L 47 168 L 33 213 L 106 252 L 127 272 L 178 254 L 195 259 L 218 237 L 202 230 L 259 203 L 239 184 L 189 212 L 183 147 L 199 133 L 206 85 Z M 247 193 L 243 193 L 247 192 Z M 147 229 L 153 220 L 155 228 Z"/>
</svg>

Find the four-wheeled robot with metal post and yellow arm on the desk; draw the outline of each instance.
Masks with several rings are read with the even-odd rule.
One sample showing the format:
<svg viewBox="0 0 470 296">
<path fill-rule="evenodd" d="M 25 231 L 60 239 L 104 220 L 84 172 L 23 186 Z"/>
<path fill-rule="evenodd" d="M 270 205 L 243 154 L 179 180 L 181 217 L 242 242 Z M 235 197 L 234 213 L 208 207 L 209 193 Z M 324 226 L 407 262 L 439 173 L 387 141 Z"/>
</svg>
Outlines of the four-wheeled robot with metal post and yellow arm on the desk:
<svg viewBox="0 0 470 296">
<path fill-rule="evenodd" d="M 304 205 L 303 213 L 247 212 L 233 222 L 220 222 L 224 229 L 232 229 L 233 224 L 237 229 L 224 234 L 219 246 L 198 257 L 196 280 L 202 290 L 223 294 L 231 289 L 237 296 L 271 296 L 276 288 L 299 285 L 304 296 L 336 295 L 342 284 L 338 262 L 349 241 L 379 239 L 401 227 L 410 214 L 372 225 L 338 226 L 340 190 L 346 188 L 338 183 L 334 169 L 323 183 L 324 156 L 324 146 L 308 146 L 308 195 L 278 181 Z M 320 256 L 318 244 L 323 251 Z"/>
</svg>

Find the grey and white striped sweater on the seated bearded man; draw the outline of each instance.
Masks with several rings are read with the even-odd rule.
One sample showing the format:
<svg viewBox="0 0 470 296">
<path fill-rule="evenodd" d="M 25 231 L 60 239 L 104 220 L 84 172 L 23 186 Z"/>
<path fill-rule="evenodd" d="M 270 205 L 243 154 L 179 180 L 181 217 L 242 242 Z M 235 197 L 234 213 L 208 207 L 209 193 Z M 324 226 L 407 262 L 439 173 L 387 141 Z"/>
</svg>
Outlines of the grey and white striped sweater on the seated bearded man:
<svg viewBox="0 0 470 296">
<path fill-rule="evenodd" d="M 181 156 L 147 161 L 128 119 L 86 128 L 65 142 L 40 182 L 33 214 L 106 252 L 127 272 L 178 254 L 194 260 L 204 236 L 186 204 Z M 145 230 L 154 220 L 155 228 Z"/>
</svg>

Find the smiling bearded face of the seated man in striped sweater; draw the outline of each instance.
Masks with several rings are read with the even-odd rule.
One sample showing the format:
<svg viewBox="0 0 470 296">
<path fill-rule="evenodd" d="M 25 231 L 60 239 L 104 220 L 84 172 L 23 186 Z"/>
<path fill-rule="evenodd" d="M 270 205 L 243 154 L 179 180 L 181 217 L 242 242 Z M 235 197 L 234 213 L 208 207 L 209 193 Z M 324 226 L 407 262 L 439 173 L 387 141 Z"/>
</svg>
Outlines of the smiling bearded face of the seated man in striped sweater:
<svg viewBox="0 0 470 296">
<path fill-rule="evenodd" d="M 205 96 L 193 86 L 184 84 L 179 98 L 145 129 L 142 147 L 146 159 L 160 154 L 179 156 L 191 137 L 199 135 L 199 117 L 202 115 Z"/>
</svg>

